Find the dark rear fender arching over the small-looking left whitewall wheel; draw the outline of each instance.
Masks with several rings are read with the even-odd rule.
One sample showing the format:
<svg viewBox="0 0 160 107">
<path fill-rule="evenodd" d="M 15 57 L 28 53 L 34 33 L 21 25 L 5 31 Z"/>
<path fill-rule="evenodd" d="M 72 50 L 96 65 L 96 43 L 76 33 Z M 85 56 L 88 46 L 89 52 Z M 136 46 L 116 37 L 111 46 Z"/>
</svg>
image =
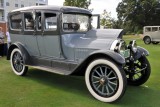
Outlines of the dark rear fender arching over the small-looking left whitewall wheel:
<svg viewBox="0 0 160 107">
<path fill-rule="evenodd" d="M 30 65 L 31 62 L 32 62 L 30 60 L 30 55 L 27 52 L 27 50 L 25 49 L 25 47 L 20 43 L 14 43 L 9 47 L 8 54 L 7 54 L 7 60 L 10 60 L 11 53 L 12 53 L 13 49 L 15 49 L 15 48 L 18 48 L 21 51 L 24 64 L 25 65 Z"/>
</svg>

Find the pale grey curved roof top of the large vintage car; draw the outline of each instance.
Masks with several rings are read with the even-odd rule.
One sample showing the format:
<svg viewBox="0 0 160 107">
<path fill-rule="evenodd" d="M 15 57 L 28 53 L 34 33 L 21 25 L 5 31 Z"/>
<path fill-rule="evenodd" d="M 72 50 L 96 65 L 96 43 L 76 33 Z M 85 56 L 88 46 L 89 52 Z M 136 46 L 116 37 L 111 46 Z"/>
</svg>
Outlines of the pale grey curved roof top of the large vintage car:
<svg viewBox="0 0 160 107">
<path fill-rule="evenodd" d="M 52 5 L 45 5 L 45 6 L 30 6 L 30 7 L 23 7 L 16 10 L 13 10 L 11 12 L 19 12 L 19 11 L 25 11 L 25 10 L 53 10 L 53 11 L 60 11 L 63 13 L 82 13 L 82 14 L 89 14 L 92 13 L 83 8 L 78 7 L 70 7 L 70 6 L 52 6 Z"/>
</svg>

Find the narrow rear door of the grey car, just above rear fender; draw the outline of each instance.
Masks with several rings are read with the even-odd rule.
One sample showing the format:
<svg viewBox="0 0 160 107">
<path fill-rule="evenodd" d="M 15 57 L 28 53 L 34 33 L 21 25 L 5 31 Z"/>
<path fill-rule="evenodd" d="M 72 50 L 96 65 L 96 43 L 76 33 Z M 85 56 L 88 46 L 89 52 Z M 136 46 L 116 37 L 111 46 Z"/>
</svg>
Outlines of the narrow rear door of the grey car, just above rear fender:
<svg viewBox="0 0 160 107">
<path fill-rule="evenodd" d="M 40 56 L 37 37 L 34 30 L 34 18 L 33 12 L 24 12 L 23 13 L 23 30 L 25 38 L 25 47 L 31 56 Z"/>
</svg>

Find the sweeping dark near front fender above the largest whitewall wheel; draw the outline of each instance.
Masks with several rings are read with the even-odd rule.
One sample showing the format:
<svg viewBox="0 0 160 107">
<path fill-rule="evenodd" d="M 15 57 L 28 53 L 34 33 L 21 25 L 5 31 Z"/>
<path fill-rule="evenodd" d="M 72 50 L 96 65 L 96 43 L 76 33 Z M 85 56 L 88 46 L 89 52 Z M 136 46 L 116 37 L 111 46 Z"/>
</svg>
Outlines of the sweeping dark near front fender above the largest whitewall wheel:
<svg viewBox="0 0 160 107">
<path fill-rule="evenodd" d="M 125 65 L 125 58 L 119 53 L 116 53 L 111 50 L 98 50 L 89 54 L 78 66 L 73 70 L 71 75 L 84 75 L 87 66 L 95 59 L 106 58 L 110 61 L 113 61 L 117 65 Z"/>
</svg>

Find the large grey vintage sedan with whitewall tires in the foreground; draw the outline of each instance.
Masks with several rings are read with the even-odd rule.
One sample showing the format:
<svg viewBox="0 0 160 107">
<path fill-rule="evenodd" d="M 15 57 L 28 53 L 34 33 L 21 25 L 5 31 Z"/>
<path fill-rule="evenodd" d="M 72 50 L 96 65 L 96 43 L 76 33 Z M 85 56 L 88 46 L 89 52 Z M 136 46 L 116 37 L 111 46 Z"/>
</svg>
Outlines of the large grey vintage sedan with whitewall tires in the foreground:
<svg viewBox="0 0 160 107">
<path fill-rule="evenodd" d="M 122 29 L 96 29 L 99 19 L 99 15 L 77 7 L 32 6 L 11 11 L 8 27 L 12 44 L 7 59 L 13 72 L 23 76 L 32 66 L 85 76 L 96 99 L 117 101 L 127 82 L 139 86 L 148 80 L 149 52 L 135 40 L 126 45 Z"/>
</svg>

